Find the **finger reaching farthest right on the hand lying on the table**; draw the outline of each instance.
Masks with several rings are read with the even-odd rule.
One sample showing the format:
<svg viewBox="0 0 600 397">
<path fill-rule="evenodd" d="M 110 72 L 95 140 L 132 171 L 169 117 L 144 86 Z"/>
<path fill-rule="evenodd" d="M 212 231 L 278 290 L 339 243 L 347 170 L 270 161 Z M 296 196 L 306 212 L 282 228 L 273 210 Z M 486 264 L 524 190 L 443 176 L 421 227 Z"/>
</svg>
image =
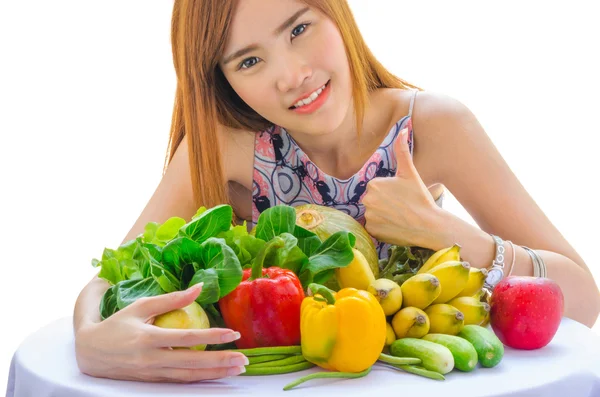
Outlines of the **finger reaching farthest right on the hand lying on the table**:
<svg viewBox="0 0 600 397">
<path fill-rule="evenodd" d="M 243 353 L 221 351 L 196 351 L 190 349 L 160 349 L 150 354 L 151 368 L 209 369 L 241 367 L 249 364 Z"/>
</svg>

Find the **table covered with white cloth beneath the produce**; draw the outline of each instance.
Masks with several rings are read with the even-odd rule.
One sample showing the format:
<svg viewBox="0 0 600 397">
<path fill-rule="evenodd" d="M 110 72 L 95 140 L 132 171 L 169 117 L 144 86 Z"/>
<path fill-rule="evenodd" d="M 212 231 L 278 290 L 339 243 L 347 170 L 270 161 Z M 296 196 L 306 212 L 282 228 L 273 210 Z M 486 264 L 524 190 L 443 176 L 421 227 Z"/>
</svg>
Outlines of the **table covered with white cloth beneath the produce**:
<svg viewBox="0 0 600 397">
<path fill-rule="evenodd" d="M 58 319 L 26 338 L 11 364 L 7 397 L 96 397 L 96 396 L 221 396 L 344 394 L 424 396 L 600 396 L 600 338 L 587 327 L 568 318 L 552 342 L 543 349 L 505 349 L 495 368 L 457 370 L 435 381 L 377 364 L 359 379 L 320 379 L 284 392 L 283 386 L 306 371 L 272 376 L 238 376 L 195 384 L 155 384 L 98 379 L 79 372 L 75 361 L 72 318 Z M 373 395 L 373 394 L 372 394 Z"/>
</svg>

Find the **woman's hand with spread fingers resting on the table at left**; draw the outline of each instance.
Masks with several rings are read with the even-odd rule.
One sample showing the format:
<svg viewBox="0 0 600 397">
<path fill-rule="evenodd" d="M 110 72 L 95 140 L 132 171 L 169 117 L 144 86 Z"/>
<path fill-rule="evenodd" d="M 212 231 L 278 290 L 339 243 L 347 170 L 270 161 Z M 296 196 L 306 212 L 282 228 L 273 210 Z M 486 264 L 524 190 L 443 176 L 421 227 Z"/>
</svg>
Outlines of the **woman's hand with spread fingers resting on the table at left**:
<svg viewBox="0 0 600 397">
<path fill-rule="evenodd" d="M 230 329 L 166 329 L 154 318 L 191 304 L 201 286 L 141 298 L 100 323 L 82 325 L 75 335 L 77 365 L 99 378 L 145 382 L 195 382 L 245 372 L 248 359 L 228 351 L 171 349 L 198 344 L 232 342 L 239 333 Z"/>
</svg>

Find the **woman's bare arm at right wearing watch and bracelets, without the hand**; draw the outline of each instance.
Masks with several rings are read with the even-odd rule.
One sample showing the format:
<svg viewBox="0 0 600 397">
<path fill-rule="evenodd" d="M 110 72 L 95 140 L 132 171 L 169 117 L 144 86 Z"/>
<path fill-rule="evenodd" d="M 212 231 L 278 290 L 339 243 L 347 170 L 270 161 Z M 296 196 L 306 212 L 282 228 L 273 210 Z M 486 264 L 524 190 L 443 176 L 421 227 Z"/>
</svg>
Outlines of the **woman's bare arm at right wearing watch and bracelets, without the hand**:
<svg viewBox="0 0 600 397">
<path fill-rule="evenodd" d="M 456 100 L 422 94 L 415 107 L 416 118 L 421 120 L 415 129 L 424 132 L 417 143 L 420 155 L 435 159 L 436 179 L 481 228 L 440 209 L 432 248 L 457 242 L 462 246 L 461 257 L 473 266 L 488 267 L 495 253 L 492 233 L 514 243 L 512 274 L 521 276 L 532 276 L 533 264 L 520 245 L 536 249 L 547 265 L 548 277 L 563 291 L 565 316 L 593 326 L 600 312 L 600 294 L 583 259 L 520 184 L 475 116 Z M 512 258 L 510 244 L 505 248 L 506 258 Z"/>
</svg>

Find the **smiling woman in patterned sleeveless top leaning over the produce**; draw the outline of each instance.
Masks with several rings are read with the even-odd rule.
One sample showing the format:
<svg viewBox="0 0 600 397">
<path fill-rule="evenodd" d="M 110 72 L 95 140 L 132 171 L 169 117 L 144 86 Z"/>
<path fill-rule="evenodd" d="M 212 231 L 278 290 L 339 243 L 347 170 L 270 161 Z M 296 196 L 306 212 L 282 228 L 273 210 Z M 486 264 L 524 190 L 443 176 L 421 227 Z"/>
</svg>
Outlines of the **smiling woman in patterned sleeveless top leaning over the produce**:
<svg viewBox="0 0 600 397">
<path fill-rule="evenodd" d="M 505 274 L 533 275 L 534 253 L 524 247 L 534 247 L 562 288 L 565 315 L 594 324 L 600 296 L 586 264 L 476 118 L 389 73 L 345 0 L 176 0 L 172 22 L 178 85 L 168 166 L 124 241 L 149 221 L 190 219 L 200 205 L 228 202 L 252 224 L 269 206 L 315 202 L 362 222 L 380 256 L 384 242 L 458 243 L 472 266 L 490 268 L 504 250 L 514 258 Z M 481 229 L 441 208 L 444 186 Z M 107 288 L 94 277 L 76 303 L 84 373 L 189 382 L 244 371 L 239 353 L 168 349 L 232 341 L 232 330 L 150 325 L 191 303 L 197 287 L 140 299 L 100 322 Z"/>
</svg>

